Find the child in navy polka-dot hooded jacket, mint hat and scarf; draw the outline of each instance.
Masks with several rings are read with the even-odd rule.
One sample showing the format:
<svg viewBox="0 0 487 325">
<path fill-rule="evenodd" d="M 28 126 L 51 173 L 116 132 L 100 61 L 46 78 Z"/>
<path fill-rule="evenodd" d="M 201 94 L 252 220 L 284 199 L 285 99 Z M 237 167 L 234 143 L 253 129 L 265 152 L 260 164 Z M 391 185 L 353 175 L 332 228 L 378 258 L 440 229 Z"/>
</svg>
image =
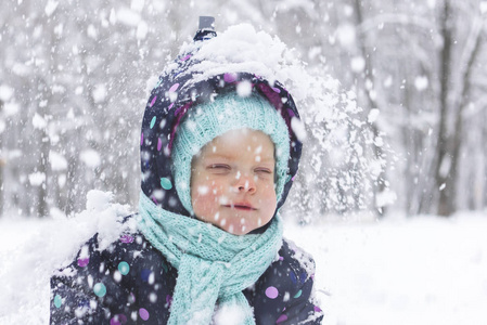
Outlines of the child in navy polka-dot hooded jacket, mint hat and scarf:
<svg viewBox="0 0 487 325">
<path fill-rule="evenodd" d="M 149 99 L 138 231 L 103 250 L 95 235 L 52 277 L 52 324 L 321 324 L 313 261 L 278 214 L 298 113 L 248 67 L 208 74 L 215 36 L 201 29 Z"/>
</svg>

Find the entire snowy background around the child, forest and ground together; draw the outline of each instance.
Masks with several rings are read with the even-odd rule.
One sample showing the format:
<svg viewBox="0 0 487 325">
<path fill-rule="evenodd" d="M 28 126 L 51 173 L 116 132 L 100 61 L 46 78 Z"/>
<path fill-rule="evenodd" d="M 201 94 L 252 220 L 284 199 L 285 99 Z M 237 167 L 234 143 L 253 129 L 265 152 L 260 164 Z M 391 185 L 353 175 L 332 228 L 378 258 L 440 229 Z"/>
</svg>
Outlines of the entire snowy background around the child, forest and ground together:
<svg viewBox="0 0 487 325">
<path fill-rule="evenodd" d="M 148 91 L 198 15 L 220 35 L 249 23 L 277 37 L 262 58 L 281 56 L 307 139 L 286 235 L 317 261 L 324 324 L 487 324 L 486 12 L 480 0 L 3 1 L 0 324 L 47 324 L 52 270 L 94 232 L 114 238 L 137 206 Z M 113 195 L 87 202 L 93 188 Z"/>
</svg>

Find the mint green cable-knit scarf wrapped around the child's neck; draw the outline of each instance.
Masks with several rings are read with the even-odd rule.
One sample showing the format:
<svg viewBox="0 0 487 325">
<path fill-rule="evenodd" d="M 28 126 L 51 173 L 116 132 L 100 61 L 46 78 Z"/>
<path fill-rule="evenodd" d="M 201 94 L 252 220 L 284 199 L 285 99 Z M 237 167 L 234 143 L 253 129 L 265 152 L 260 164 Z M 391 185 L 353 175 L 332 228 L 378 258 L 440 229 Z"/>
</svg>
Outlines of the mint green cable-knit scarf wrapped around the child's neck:
<svg viewBox="0 0 487 325">
<path fill-rule="evenodd" d="M 239 324 L 255 324 L 242 290 L 275 259 L 282 245 L 279 216 L 261 234 L 232 235 L 209 223 L 155 206 L 140 194 L 139 229 L 178 270 L 167 324 L 208 325 L 215 307 L 231 311 Z"/>
</svg>

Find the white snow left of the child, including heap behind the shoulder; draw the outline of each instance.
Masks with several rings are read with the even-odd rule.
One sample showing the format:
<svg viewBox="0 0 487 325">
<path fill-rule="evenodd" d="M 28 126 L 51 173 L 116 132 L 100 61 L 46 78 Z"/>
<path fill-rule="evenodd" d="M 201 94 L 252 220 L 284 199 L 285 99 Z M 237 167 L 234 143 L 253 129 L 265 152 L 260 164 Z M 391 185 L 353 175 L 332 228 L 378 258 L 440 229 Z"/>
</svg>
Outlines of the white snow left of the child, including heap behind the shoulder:
<svg viewBox="0 0 487 325">
<path fill-rule="evenodd" d="M 87 209 L 71 218 L 2 222 L 9 235 L 0 245 L 0 324 L 48 324 L 50 277 L 95 233 L 105 249 L 136 230 L 134 220 L 120 222 L 130 210 L 112 203 L 113 194 L 90 191 L 87 198 Z"/>
</svg>

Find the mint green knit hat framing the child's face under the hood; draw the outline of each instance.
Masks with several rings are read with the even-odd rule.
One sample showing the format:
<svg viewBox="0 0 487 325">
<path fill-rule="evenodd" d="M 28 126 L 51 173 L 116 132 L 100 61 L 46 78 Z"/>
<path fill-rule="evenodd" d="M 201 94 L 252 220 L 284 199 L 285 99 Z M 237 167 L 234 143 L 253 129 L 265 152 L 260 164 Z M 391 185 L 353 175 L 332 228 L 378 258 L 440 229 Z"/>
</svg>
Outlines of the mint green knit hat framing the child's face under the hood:
<svg viewBox="0 0 487 325">
<path fill-rule="evenodd" d="M 213 139 L 235 129 L 253 129 L 268 134 L 275 147 L 275 194 L 281 199 L 290 159 L 290 133 L 275 108 L 253 92 L 240 96 L 236 92 L 218 95 L 215 101 L 192 107 L 176 132 L 172 147 L 172 173 L 176 191 L 183 207 L 193 213 L 191 205 L 191 161 Z"/>
</svg>

